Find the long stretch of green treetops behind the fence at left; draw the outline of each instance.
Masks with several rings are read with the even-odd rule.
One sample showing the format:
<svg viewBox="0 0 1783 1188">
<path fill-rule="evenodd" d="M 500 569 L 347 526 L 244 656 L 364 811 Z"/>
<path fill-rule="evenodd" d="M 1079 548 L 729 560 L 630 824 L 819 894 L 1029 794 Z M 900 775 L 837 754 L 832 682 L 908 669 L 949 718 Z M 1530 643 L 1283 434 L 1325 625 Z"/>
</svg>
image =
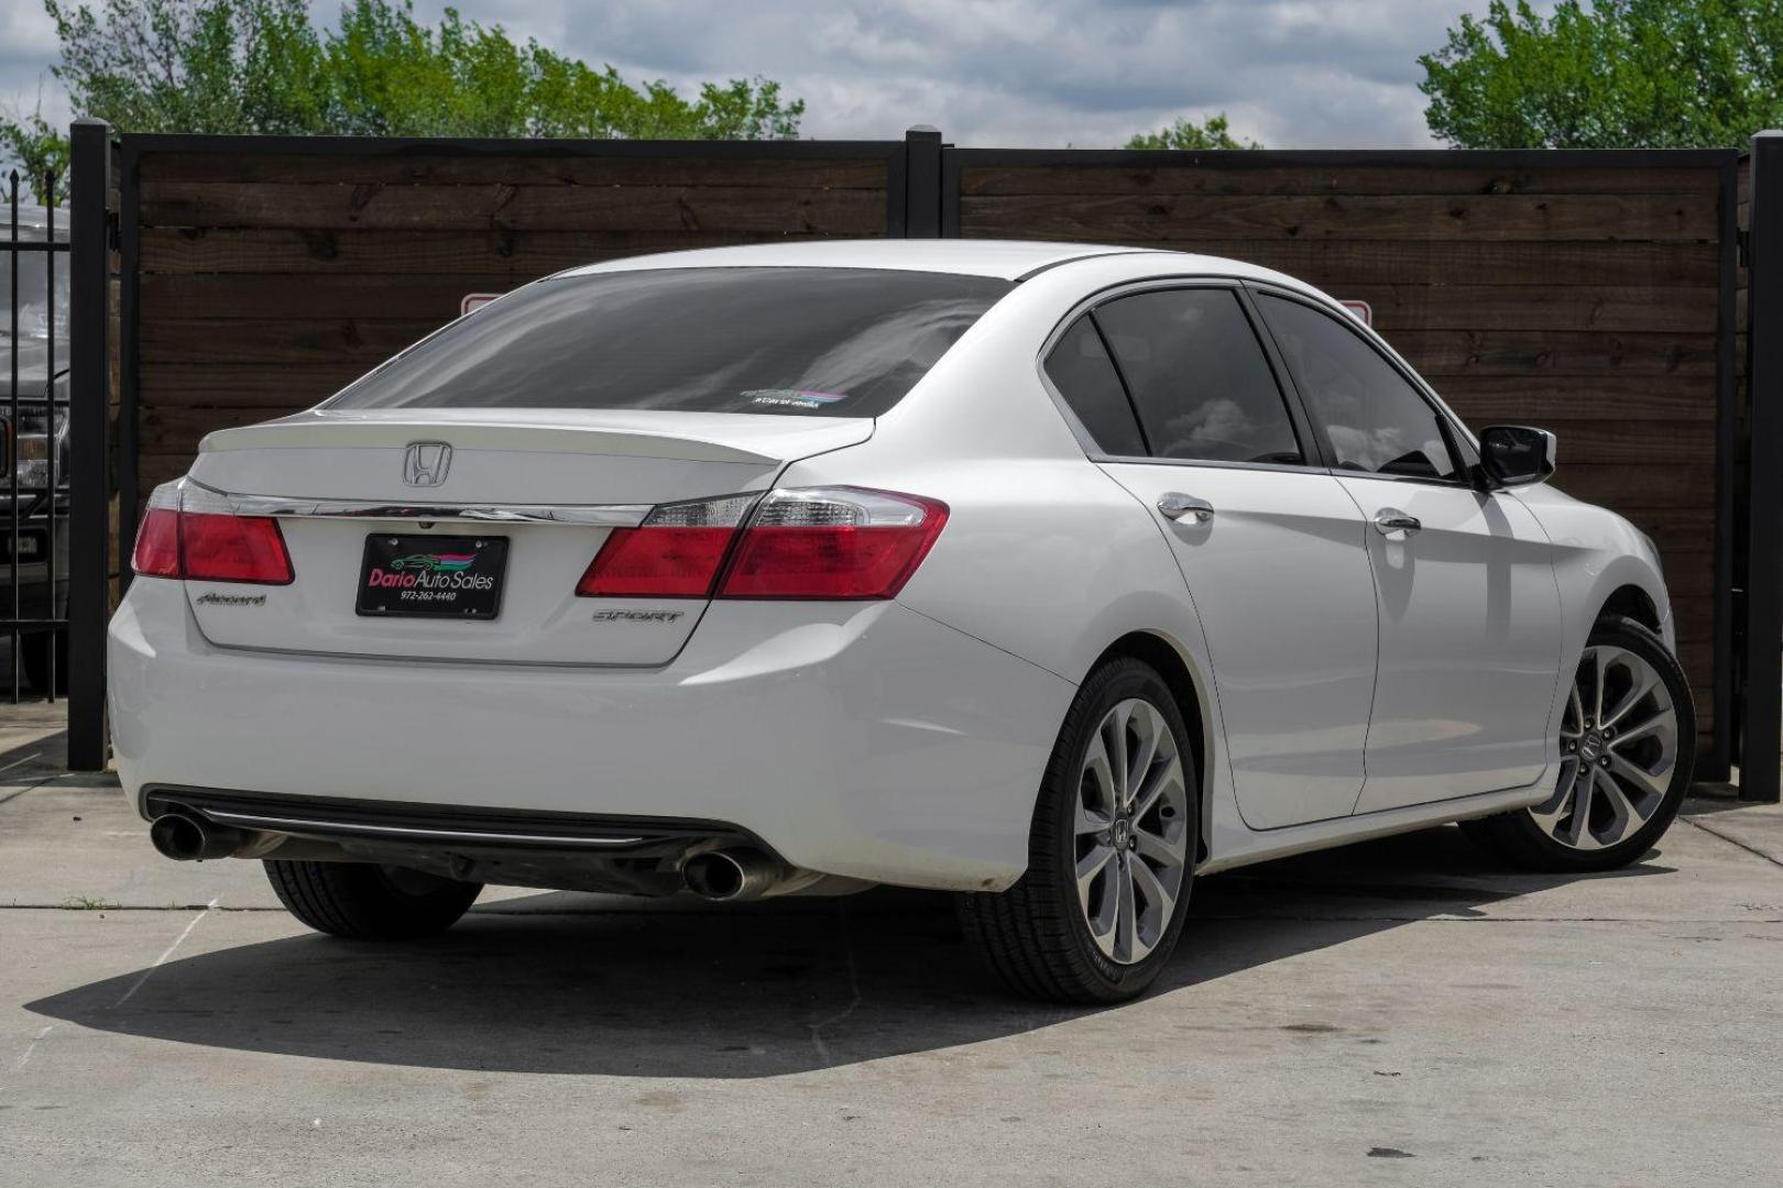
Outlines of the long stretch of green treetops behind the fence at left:
<svg viewBox="0 0 1783 1188">
<path fill-rule="evenodd" d="M 333 28 L 317 27 L 305 0 L 45 9 L 71 107 L 125 132 L 767 139 L 795 137 L 804 114 L 804 100 L 783 100 L 767 78 L 708 82 L 686 98 L 453 9 L 424 25 L 410 0 L 349 0 Z M 0 150 L 66 159 L 37 118 L 0 118 Z"/>
</svg>

